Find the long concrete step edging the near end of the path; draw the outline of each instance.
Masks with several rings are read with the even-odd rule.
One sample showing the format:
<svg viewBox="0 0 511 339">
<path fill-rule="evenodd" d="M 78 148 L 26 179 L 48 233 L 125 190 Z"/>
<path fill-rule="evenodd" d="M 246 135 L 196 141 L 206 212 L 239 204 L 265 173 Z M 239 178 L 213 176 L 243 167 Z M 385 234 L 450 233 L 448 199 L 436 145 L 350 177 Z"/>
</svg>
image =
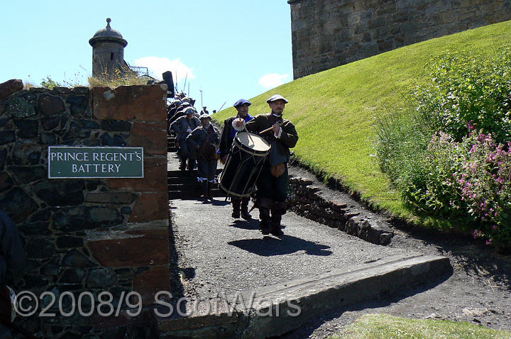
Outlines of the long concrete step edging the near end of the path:
<svg viewBox="0 0 511 339">
<path fill-rule="evenodd" d="M 396 255 L 263 287 L 255 294 L 244 291 L 227 296 L 227 300 L 187 300 L 180 313 L 191 316 L 180 316 L 174 309 L 169 318 L 157 318 L 157 326 L 160 339 L 269 338 L 299 328 L 309 318 L 422 282 L 437 281 L 449 272 L 452 267 L 446 257 Z M 243 303 L 235 305 L 236 300 Z M 211 304 L 207 306 L 207 302 Z M 269 303 L 273 305 L 270 309 Z"/>
</svg>

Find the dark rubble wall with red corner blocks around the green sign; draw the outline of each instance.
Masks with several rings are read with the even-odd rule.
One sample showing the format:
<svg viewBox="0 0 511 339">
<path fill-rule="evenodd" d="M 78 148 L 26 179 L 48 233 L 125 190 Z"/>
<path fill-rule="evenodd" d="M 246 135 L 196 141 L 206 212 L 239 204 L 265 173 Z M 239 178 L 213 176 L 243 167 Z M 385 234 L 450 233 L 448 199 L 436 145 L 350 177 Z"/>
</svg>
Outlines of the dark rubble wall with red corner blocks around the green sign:
<svg viewBox="0 0 511 339">
<path fill-rule="evenodd" d="M 0 209 L 16 221 L 28 259 L 13 287 L 50 291 L 56 301 L 48 310 L 55 316 L 38 316 L 47 296 L 16 323 L 38 338 L 149 338 L 150 312 L 131 318 L 124 296 L 136 291 L 148 306 L 155 291 L 170 290 L 166 85 L 18 85 L 0 84 Z M 141 147 L 144 177 L 48 179 L 49 145 Z M 95 306 L 109 291 L 120 316 L 62 316 L 65 291 L 75 300 L 90 292 Z M 70 300 L 62 299 L 66 312 Z M 91 304 L 82 299 L 85 311 Z"/>
</svg>

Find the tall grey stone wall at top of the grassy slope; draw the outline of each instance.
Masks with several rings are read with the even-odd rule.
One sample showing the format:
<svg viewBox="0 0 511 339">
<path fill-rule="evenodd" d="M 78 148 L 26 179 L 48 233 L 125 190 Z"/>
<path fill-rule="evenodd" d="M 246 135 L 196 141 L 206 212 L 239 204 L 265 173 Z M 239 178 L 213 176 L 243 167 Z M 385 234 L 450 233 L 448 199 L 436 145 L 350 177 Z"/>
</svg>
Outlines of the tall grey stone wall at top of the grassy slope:
<svg viewBox="0 0 511 339">
<path fill-rule="evenodd" d="M 511 19 L 510 0 L 290 0 L 295 79 Z"/>
</svg>

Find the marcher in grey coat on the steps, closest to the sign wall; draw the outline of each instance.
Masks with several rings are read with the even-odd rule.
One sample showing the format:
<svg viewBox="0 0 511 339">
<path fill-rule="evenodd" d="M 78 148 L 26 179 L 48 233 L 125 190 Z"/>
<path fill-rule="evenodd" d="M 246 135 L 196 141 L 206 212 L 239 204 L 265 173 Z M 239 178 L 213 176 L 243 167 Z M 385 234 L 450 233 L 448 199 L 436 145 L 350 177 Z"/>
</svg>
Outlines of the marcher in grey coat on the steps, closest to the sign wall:
<svg viewBox="0 0 511 339">
<path fill-rule="evenodd" d="M 186 138 L 189 133 L 192 133 L 192 130 L 200 126 L 200 121 L 194 116 L 195 111 L 192 107 L 189 107 L 185 113 L 185 116 L 178 118 L 170 125 L 170 130 L 176 133 L 175 140 L 178 145 L 177 155 L 180 157 L 180 170 L 188 169 L 191 173 L 195 166 L 195 152 L 188 148 Z"/>
</svg>

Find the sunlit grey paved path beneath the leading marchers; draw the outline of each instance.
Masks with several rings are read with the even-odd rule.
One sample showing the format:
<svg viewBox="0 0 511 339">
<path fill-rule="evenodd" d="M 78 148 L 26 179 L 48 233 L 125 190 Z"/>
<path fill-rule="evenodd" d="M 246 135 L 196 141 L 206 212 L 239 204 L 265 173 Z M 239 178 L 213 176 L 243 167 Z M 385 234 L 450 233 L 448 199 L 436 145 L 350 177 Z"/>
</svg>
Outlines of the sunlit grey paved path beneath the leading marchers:
<svg viewBox="0 0 511 339">
<path fill-rule="evenodd" d="M 177 159 L 172 153 L 169 159 L 168 169 L 175 170 Z M 365 299 L 365 293 L 370 298 L 382 291 L 392 291 L 399 286 L 400 279 L 404 279 L 403 284 L 418 284 L 423 272 L 436 276 L 444 274 L 449 266 L 446 260 L 441 260 L 439 271 L 432 273 L 431 267 L 438 258 L 367 243 L 292 212 L 282 217 L 285 235 L 263 237 L 258 230 L 256 209 L 251 212 L 252 221 L 235 220 L 231 218 L 231 204 L 223 198 L 212 202 L 174 199 L 170 201 L 170 211 L 177 265 L 183 275 L 182 290 L 190 299 L 211 299 L 224 292 L 227 296 L 239 292 L 248 295 L 253 291 L 259 295 L 286 294 L 310 300 L 316 295 L 319 301 L 330 305 L 332 300 L 326 299 L 339 297 L 337 293 L 343 289 L 360 286 L 355 292 L 349 290 L 349 294 L 357 294 L 355 302 Z M 409 277 L 414 280 L 407 280 Z M 339 297 L 339 303 L 342 302 L 346 302 L 344 296 Z M 335 300 L 331 306 L 336 306 Z M 318 308 L 321 307 L 304 305 L 310 313 L 304 318 L 320 312 Z M 300 321 L 283 319 L 282 325 L 274 320 L 271 324 L 266 320 L 255 325 L 249 323 L 256 334 L 248 335 L 250 331 L 245 331 L 241 336 L 265 338 L 300 325 Z M 172 327 L 167 325 L 160 326 L 160 330 Z"/>
</svg>

